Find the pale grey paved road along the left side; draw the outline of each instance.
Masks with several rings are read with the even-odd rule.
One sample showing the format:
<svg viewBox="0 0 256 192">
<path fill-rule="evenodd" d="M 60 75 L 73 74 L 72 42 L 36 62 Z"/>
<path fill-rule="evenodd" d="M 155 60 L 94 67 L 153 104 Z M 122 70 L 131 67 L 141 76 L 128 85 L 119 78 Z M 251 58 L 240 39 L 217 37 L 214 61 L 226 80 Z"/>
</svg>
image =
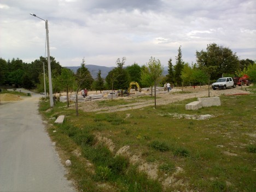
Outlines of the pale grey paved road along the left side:
<svg viewBox="0 0 256 192">
<path fill-rule="evenodd" d="M 39 97 L 0 104 L 0 191 L 75 191 L 44 130 Z"/>
</svg>

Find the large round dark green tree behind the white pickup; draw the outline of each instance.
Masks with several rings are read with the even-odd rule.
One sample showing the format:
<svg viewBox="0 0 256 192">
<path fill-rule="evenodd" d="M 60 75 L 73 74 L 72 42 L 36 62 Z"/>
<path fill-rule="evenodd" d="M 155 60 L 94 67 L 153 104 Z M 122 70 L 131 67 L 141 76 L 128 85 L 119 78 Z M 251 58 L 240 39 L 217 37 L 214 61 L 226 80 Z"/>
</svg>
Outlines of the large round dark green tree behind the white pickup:
<svg viewBox="0 0 256 192">
<path fill-rule="evenodd" d="M 235 74 L 239 68 L 236 53 L 216 43 L 207 45 L 206 51 L 196 51 L 196 60 L 199 68 L 215 66 L 216 71 L 211 73 L 210 79 L 218 79 L 224 73 Z"/>
</svg>

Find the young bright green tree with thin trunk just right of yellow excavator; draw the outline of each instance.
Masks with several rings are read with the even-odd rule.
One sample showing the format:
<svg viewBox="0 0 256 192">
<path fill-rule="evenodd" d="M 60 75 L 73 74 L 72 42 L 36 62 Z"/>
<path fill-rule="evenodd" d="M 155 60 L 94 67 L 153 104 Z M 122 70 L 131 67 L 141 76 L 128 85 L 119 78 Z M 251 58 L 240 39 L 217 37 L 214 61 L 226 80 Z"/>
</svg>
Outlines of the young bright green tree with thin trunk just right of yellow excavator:
<svg viewBox="0 0 256 192">
<path fill-rule="evenodd" d="M 156 84 L 164 71 L 164 67 L 161 65 L 160 60 L 155 60 L 151 57 L 149 62 L 146 65 L 146 68 L 143 68 L 142 71 L 142 81 L 149 82 L 149 84 L 154 84 L 154 99 L 155 99 L 155 108 L 156 108 Z"/>
</svg>

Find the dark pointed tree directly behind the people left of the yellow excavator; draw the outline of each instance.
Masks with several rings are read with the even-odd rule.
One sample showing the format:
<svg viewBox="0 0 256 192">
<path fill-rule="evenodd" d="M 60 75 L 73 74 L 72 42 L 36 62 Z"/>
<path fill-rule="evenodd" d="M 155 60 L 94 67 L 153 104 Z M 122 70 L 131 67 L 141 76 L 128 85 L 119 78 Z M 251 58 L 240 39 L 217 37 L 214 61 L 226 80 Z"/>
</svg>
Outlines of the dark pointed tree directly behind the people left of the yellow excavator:
<svg viewBox="0 0 256 192">
<path fill-rule="evenodd" d="M 91 89 L 91 85 L 94 82 L 94 78 L 92 78 L 91 73 L 88 68 L 85 67 L 85 60 L 82 60 L 81 67 L 77 69 L 77 74 L 82 74 L 84 77 L 81 77 L 83 80 L 83 83 L 81 85 L 82 89 Z"/>
</svg>

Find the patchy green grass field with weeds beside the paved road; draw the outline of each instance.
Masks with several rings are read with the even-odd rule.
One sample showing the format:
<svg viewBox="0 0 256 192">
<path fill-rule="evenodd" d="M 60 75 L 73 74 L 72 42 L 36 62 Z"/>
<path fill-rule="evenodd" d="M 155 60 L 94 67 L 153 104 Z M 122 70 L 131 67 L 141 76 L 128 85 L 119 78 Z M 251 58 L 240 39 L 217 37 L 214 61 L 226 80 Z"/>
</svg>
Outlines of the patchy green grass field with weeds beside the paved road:
<svg viewBox="0 0 256 192">
<path fill-rule="evenodd" d="M 44 102 L 40 110 L 45 118 L 66 115 L 63 125 L 48 130 L 57 147 L 71 159 L 68 177 L 75 179 L 79 190 L 255 191 L 255 95 L 221 96 L 220 100 L 222 106 L 197 111 L 184 109 L 195 99 L 118 113 L 81 111 L 79 117 L 67 108 L 54 107 L 45 112 L 48 107 Z M 167 113 L 212 114 L 213 118 L 200 121 L 162 115 Z M 114 152 L 98 143 L 96 134 L 111 139 Z M 141 154 L 138 164 L 132 164 L 125 155 L 115 156 L 123 146 L 130 146 L 130 154 Z M 82 155 L 73 155 L 75 149 Z M 185 185 L 163 188 L 159 180 L 138 171 L 143 161 L 158 165 L 157 174 L 162 180 L 173 176 Z M 173 175 L 177 167 L 183 171 Z"/>
</svg>

